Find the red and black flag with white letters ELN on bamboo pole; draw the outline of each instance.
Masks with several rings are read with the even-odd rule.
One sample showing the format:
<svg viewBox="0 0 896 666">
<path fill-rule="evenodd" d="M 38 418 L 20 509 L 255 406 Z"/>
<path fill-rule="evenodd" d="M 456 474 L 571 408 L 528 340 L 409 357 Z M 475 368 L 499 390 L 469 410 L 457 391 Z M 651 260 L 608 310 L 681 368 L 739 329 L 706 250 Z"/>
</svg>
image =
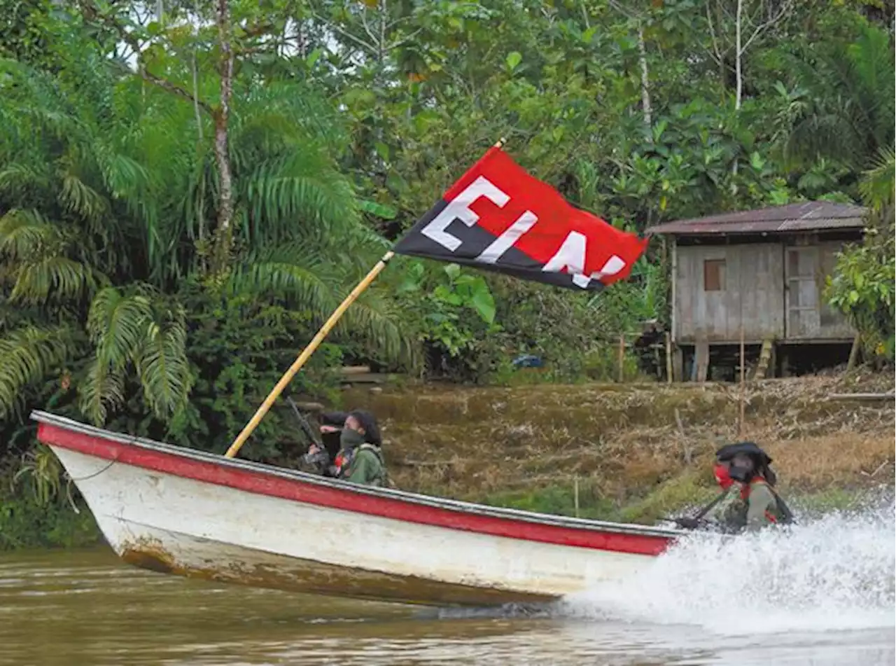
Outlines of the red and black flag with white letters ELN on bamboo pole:
<svg viewBox="0 0 896 666">
<path fill-rule="evenodd" d="M 567 203 L 494 147 L 392 250 L 523 280 L 600 290 L 628 277 L 647 243 Z"/>
</svg>

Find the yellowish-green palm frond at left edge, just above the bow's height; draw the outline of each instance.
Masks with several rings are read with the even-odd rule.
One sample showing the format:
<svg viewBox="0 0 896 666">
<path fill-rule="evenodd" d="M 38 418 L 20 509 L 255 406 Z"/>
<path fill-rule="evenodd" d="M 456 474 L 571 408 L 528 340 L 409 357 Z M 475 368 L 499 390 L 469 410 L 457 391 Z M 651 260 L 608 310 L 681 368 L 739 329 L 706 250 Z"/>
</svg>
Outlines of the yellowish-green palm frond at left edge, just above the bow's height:
<svg viewBox="0 0 896 666">
<path fill-rule="evenodd" d="M 67 326 L 29 325 L 0 338 L 0 420 L 16 408 L 26 386 L 63 365 L 75 346 Z"/>
</svg>

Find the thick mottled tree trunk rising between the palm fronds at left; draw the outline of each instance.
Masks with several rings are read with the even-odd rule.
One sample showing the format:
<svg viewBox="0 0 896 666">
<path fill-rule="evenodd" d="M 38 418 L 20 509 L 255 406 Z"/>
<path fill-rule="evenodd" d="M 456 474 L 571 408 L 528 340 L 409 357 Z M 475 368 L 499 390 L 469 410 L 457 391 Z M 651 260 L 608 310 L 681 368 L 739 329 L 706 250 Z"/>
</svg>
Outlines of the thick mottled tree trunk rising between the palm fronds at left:
<svg viewBox="0 0 896 666">
<path fill-rule="evenodd" d="M 230 262 L 230 248 L 233 244 L 233 177 L 230 172 L 228 148 L 228 122 L 230 119 L 230 97 L 233 94 L 233 48 L 230 44 L 230 8 L 228 0 L 218 0 L 218 32 L 220 36 L 220 106 L 214 111 L 215 119 L 215 161 L 218 165 L 218 228 L 215 229 L 214 255 L 211 272 L 220 275 L 227 270 Z"/>
</svg>

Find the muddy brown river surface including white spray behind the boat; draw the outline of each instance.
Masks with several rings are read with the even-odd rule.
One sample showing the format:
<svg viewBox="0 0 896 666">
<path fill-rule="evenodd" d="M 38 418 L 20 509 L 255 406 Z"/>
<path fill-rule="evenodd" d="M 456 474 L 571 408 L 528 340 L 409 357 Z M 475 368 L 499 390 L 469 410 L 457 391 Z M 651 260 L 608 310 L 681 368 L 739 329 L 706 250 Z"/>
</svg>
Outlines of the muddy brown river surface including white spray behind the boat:
<svg viewBox="0 0 896 666">
<path fill-rule="evenodd" d="M 0 666 L 896 665 L 896 511 L 695 538 L 540 610 L 430 610 L 194 582 L 108 549 L 0 554 Z"/>
</svg>

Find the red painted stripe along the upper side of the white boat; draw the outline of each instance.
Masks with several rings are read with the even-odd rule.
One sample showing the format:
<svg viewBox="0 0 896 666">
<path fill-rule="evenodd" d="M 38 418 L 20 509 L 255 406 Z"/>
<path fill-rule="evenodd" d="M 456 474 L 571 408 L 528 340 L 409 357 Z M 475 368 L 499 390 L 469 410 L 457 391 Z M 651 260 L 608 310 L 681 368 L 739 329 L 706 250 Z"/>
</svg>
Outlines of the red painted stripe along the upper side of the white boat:
<svg viewBox="0 0 896 666">
<path fill-rule="evenodd" d="M 406 523 L 435 525 L 509 539 L 614 550 L 638 555 L 659 555 L 671 541 L 661 536 L 602 532 L 594 528 L 564 527 L 524 519 L 472 514 L 462 510 L 418 504 L 399 497 L 372 497 L 350 488 L 331 488 L 298 479 L 284 479 L 263 471 L 244 470 L 229 467 L 227 464 L 211 463 L 142 446 L 128 445 L 103 437 L 92 437 L 48 423 L 40 423 L 38 439 L 44 444 L 184 479 L 227 486 L 256 495 L 327 506 L 356 514 L 377 515 Z"/>
</svg>

